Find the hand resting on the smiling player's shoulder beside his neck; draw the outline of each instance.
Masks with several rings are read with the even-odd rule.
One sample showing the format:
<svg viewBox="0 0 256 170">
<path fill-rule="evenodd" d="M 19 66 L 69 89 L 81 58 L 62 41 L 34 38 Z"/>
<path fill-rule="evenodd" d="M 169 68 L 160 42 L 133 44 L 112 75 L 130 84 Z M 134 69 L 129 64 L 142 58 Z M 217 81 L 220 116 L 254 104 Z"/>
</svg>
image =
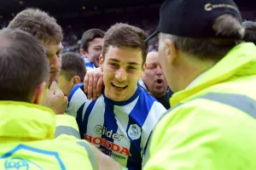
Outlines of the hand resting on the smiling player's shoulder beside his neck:
<svg viewBox="0 0 256 170">
<path fill-rule="evenodd" d="M 84 77 L 84 92 L 88 99 L 96 100 L 102 95 L 102 88 L 104 87 L 103 73 L 100 68 L 87 71 Z"/>
</svg>

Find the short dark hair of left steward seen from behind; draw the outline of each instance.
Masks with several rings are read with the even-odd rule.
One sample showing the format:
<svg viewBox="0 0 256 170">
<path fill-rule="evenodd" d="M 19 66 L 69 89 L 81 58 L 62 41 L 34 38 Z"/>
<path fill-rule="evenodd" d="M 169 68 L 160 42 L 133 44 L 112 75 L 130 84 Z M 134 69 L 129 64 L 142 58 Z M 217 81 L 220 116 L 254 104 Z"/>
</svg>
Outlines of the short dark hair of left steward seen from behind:
<svg viewBox="0 0 256 170">
<path fill-rule="evenodd" d="M 25 31 L 0 31 L 0 72 L 0 100 L 30 102 L 49 79 L 43 43 Z"/>
</svg>

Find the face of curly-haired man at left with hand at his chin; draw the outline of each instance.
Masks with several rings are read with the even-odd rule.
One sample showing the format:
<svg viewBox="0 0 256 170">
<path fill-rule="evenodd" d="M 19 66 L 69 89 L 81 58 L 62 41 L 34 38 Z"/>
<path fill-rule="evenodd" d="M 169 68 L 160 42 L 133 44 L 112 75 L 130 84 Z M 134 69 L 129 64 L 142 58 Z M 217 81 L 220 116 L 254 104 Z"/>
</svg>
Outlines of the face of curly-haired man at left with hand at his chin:
<svg viewBox="0 0 256 170">
<path fill-rule="evenodd" d="M 47 58 L 49 61 L 49 86 L 51 82 L 58 82 L 58 77 L 61 72 L 61 50 L 63 46 L 61 43 L 44 42 L 44 47 L 47 51 Z"/>
</svg>

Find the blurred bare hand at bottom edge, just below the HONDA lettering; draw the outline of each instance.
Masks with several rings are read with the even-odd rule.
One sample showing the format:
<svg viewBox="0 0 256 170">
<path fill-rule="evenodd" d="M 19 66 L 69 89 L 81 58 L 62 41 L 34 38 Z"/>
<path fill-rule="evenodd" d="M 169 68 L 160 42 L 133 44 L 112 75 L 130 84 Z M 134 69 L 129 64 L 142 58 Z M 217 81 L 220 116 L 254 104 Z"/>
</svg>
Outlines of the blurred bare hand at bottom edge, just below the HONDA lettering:
<svg viewBox="0 0 256 170">
<path fill-rule="evenodd" d="M 98 166 L 99 170 L 121 170 L 122 166 L 116 162 L 113 161 L 113 159 L 110 156 L 107 156 L 102 153 L 101 150 L 98 150 L 96 146 L 91 144 L 92 150 L 96 155 L 97 161 L 98 161 Z"/>
</svg>

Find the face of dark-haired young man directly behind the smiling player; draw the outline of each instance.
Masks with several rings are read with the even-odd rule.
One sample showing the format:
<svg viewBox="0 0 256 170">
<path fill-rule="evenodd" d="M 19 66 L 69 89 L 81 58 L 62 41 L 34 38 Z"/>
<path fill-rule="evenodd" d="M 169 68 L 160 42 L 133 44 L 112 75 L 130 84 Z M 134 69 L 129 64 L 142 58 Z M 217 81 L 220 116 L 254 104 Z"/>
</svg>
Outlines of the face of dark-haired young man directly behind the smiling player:
<svg viewBox="0 0 256 170">
<path fill-rule="evenodd" d="M 91 42 L 89 42 L 87 58 L 90 62 L 98 67 L 99 57 L 102 54 L 103 38 L 96 37 Z"/>
</svg>

